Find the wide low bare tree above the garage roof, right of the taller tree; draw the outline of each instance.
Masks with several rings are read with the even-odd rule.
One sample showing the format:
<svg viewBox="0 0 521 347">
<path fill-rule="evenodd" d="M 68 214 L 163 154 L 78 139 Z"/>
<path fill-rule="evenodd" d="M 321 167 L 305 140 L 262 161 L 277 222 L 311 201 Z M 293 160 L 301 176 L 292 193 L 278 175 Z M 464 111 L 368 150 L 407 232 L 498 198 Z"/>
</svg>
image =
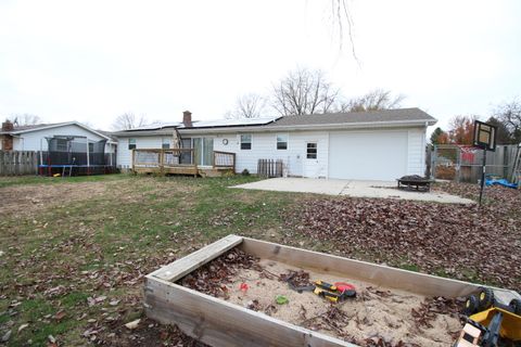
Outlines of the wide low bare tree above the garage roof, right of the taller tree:
<svg viewBox="0 0 521 347">
<path fill-rule="evenodd" d="M 405 95 L 392 95 L 391 91 L 374 89 L 365 95 L 351 99 L 340 106 L 341 112 L 364 112 L 398 108 Z"/>
</svg>

